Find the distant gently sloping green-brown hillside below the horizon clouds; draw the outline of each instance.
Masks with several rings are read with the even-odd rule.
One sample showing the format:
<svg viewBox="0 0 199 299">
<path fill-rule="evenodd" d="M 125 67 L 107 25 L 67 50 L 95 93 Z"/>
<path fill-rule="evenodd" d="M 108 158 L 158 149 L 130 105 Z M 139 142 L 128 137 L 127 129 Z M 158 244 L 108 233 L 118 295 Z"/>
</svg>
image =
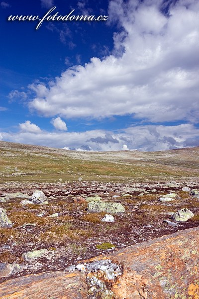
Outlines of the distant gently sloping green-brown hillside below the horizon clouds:
<svg viewBox="0 0 199 299">
<path fill-rule="evenodd" d="M 74 151 L 0 141 L 0 182 L 194 181 L 199 147 L 165 151 Z"/>
</svg>

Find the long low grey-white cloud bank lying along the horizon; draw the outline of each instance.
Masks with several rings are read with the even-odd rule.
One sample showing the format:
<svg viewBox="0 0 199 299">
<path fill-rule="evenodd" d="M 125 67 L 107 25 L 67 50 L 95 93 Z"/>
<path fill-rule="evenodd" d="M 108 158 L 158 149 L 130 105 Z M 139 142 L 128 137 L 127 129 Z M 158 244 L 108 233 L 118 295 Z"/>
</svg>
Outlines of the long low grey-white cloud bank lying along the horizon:
<svg viewBox="0 0 199 299">
<path fill-rule="evenodd" d="M 80 150 L 166 150 L 199 146 L 199 129 L 193 124 L 178 126 L 134 126 L 111 132 L 92 130 L 85 132 L 46 132 L 26 121 L 20 132 L 0 132 L 2 140 L 45 145 L 54 148 Z"/>
</svg>

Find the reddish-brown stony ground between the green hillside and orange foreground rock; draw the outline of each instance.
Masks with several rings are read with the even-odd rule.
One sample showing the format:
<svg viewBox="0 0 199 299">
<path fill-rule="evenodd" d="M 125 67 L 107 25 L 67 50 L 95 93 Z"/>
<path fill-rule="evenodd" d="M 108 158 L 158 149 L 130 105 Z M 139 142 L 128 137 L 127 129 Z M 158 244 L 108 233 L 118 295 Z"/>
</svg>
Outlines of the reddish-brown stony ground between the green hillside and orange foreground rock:
<svg viewBox="0 0 199 299">
<path fill-rule="evenodd" d="M 0 282 L 30 273 L 64 270 L 80 260 L 198 226 L 199 198 L 182 191 L 183 186 L 95 181 L 1 184 L 0 207 L 13 225 L 0 228 L 0 262 L 16 263 L 20 269 L 8 271 Z M 188 187 L 199 186 L 193 183 Z M 35 189 L 42 190 L 48 202 L 23 204 Z M 27 198 L 14 192 L 22 192 Z M 158 200 L 171 193 L 177 194 L 172 201 Z M 88 210 L 91 196 L 92 200 L 100 196 L 102 202 L 121 203 L 125 212 L 111 213 L 114 222 L 103 222 L 104 215 L 110 213 Z M 182 208 L 195 216 L 185 222 L 171 219 L 171 212 Z M 45 251 L 38 258 L 24 255 L 40 249 Z"/>
</svg>

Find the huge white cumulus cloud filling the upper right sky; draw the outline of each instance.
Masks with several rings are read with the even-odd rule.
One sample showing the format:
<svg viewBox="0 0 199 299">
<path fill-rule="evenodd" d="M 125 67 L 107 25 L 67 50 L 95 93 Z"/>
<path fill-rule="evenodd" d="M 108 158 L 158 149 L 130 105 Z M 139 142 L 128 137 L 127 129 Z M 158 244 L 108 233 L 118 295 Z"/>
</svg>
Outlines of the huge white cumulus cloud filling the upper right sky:
<svg viewBox="0 0 199 299">
<path fill-rule="evenodd" d="M 163 2 L 110 1 L 109 19 L 120 24 L 112 54 L 70 67 L 50 85 L 35 84 L 29 108 L 46 117 L 196 122 L 199 1 L 176 1 L 167 15 Z"/>
</svg>

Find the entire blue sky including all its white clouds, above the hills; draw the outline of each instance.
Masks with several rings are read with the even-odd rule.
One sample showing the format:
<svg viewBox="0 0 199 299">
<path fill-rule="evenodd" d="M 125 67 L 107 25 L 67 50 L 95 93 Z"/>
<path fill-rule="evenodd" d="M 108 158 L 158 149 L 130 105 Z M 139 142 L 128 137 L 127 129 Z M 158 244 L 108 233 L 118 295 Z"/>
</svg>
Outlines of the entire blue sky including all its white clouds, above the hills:
<svg viewBox="0 0 199 299">
<path fill-rule="evenodd" d="M 12 16 L 104 21 L 8 21 Z M 50 15 L 49 14 L 49 15 Z M 0 1 L 0 140 L 77 150 L 199 146 L 198 0 Z"/>
</svg>

